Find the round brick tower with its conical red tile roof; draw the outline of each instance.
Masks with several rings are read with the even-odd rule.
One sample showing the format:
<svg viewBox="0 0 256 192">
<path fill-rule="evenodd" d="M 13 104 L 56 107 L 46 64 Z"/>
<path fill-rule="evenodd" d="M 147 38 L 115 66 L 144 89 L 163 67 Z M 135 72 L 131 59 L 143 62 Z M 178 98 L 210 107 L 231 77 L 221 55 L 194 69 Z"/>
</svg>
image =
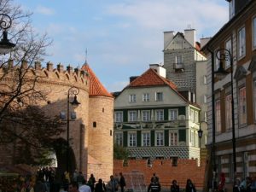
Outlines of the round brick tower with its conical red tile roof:
<svg viewBox="0 0 256 192">
<path fill-rule="evenodd" d="M 89 73 L 88 177 L 108 181 L 113 174 L 113 96 L 85 62 L 82 70 Z"/>
</svg>

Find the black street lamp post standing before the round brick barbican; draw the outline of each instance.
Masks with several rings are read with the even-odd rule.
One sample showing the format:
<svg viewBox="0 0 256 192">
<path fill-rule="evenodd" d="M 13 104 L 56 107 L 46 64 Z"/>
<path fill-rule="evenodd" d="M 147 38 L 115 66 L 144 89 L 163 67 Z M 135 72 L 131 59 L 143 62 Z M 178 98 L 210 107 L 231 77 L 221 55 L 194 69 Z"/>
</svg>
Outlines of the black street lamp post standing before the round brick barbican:
<svg viewBox="0 0 256 192">
<path fill-rule="evenodd" d="M 77 95 L 79 95 L 79 88 L 71 87 L 67 91 L 67 172 L 69 172 L 69 104 L 72 104 L 74 107 L 79 106 L 80 102 L 78 102 Z M 69 102 L 69 97 L 74 96 L 73 102 Z"/>
</svg>

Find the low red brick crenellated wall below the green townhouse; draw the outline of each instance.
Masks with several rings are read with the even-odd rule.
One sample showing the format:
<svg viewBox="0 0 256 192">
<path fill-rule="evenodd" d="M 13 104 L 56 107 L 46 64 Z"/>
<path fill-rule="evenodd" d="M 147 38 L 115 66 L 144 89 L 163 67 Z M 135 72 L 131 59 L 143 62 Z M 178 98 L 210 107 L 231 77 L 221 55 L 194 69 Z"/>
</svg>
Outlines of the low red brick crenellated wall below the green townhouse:
<svg viewBox="0 0 256 192">
<path fill-rule="evenodd" d="M 113 165 L 113 174 L 123 172 L 125 175 L 134 171 L 143 173 L 146 186 L 155 172 L 162 188 L 168 189 L 173 179 L 176 179 L 180 187 L 184 188 L 188 178 L 195 183 L 196 189 L 202 189 L 206 166 L 205 162 L 197 166 L 197 160 L 182 159 L 177 160 L 177 166 L 172 166 L 172 160 L 154 160 L 152 166 L 147 166 L 146 160 L 128 160 L 128 166 L 123 166 L 123 160 L 114 160 Z"/>
</svg>

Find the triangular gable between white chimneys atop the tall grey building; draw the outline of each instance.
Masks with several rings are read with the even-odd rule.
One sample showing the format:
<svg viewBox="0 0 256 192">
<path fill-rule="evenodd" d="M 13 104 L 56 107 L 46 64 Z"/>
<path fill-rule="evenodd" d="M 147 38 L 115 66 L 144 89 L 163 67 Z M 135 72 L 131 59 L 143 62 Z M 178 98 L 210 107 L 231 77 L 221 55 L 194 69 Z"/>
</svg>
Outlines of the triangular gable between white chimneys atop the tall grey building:
<svg viewBox="0 0 256 192">
<path fill-rule="evenodd" d="M 183 35 L 178 32 L 172 41 L 166 46 L 165 50 L 168 49 L 189 49 L 193 48 L 191 44 L 183 37 Z"/>
</svg>

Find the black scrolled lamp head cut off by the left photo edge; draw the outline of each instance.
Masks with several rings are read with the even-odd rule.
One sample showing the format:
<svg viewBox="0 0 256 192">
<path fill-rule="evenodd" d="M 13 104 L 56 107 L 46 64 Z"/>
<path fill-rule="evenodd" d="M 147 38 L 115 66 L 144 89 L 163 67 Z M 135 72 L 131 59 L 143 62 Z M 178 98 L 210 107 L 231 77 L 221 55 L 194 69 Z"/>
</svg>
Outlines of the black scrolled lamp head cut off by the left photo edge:
<svg viewBox="0 0 256 192">
<path fill-rule="evenodd" d="M 3 38 L 0 41 L 0 55 L 5 55 L 10 52 L 15 44 L 9 42 L 7 30 L 12 25 L 12 19 L 9 15 L 0 14 L 0 28 L 3 29 Z"/>
</svg>

